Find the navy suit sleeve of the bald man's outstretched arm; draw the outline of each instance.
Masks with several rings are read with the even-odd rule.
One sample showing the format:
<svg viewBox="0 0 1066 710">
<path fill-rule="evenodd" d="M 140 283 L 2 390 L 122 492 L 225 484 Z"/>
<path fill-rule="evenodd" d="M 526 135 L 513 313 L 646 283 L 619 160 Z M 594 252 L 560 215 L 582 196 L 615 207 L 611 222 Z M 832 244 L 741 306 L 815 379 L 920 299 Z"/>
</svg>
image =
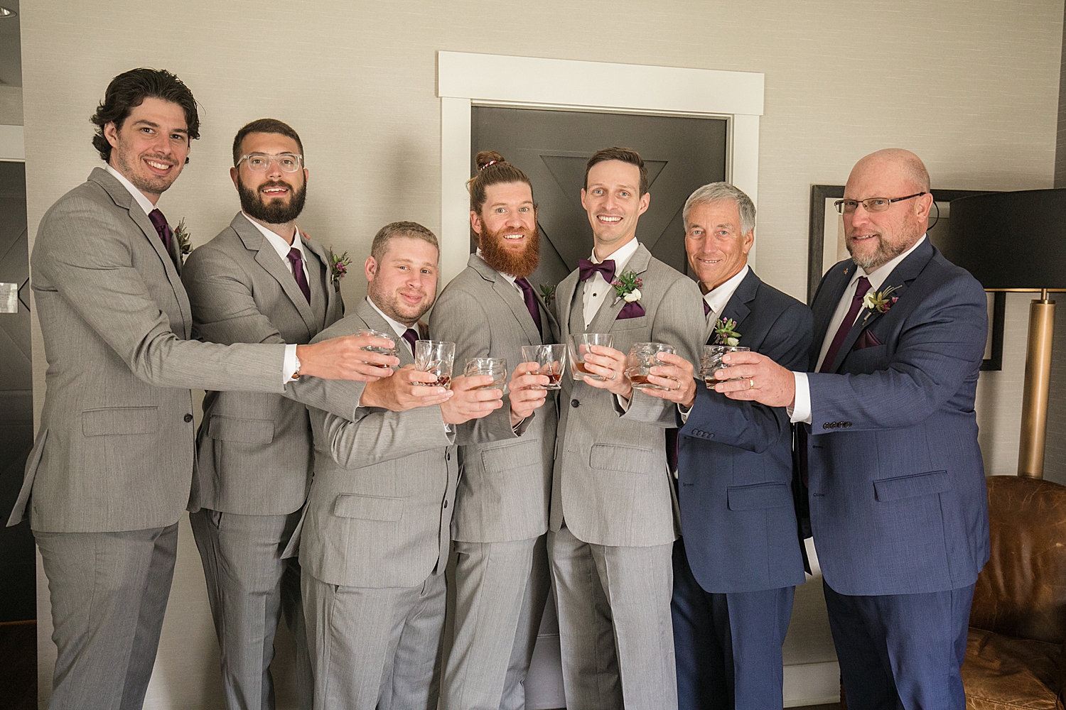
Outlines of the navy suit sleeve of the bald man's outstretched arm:
<svg viewBox="0 0 1066 710">
<path fill-rule="evenodd" d="M 886 369 L 869 375 L 809 373 L 811 433 L 827 422 L 850 431 L 903 429 L 925 420 L 976 378 L 988 334 L 984 291 L 957 278 L 930 293 L 903 325 Z"/>
</svg>

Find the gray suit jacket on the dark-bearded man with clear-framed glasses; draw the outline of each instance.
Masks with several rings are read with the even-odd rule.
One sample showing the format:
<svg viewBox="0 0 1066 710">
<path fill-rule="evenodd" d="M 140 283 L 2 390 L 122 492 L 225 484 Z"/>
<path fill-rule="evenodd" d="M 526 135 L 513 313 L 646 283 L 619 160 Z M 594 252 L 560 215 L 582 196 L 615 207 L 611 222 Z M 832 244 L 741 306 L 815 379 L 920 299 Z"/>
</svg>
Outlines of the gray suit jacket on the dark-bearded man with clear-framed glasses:
<svg viewBox="0 0 1066 710">
<path fill-rule="evenodd" d="M 240 212 L 193 251 L 181 281 L 193 310 L 193 337 L 212 343 L 306 344 L 343 315 L 330 284 L 327 251 L 303 240 L 308 304 L 277 251 Z M 311 484 L 307 408 L 276 394 L 208 392 L 196 432 L 189 510 L 285 515 Z"/>
</svg>

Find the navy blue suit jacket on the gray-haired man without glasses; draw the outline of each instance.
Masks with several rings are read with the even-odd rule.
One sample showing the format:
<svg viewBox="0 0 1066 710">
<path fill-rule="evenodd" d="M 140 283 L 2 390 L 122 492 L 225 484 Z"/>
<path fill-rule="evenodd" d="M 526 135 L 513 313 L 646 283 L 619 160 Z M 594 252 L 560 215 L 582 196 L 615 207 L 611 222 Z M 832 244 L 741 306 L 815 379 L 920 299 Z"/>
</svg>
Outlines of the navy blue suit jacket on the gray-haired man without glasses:
<svg viewBox="0 0 1066 710">
<path fill-rule="evenodd" d="M 722 317 L 737 321 L 740 344 L 753 352 L 792 369 L 807 364 L 810 309 L 755 271 Z M 785 408 L 737 401 L 697 384 L 680 432 L 678 498 L 689 565 L 705 591 L 755 592 L 804 581 L 792 469 Z"/>
</svg>

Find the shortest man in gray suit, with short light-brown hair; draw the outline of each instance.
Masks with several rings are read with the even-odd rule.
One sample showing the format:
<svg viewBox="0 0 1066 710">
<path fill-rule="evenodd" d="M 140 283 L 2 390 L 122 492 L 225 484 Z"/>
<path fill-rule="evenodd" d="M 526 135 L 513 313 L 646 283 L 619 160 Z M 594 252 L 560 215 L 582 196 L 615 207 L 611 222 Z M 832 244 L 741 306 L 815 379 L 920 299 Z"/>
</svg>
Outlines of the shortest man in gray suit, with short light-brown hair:
<svg viewBox="0 0 1066 710">
<path fill-rule="evenodd" d="M 311 411 L 314 481 L 300 563 L 314 707 L 435 710 L 458 478 L 454 425 L 500 409 L 503 392 L 480 389 L 491 376 L 452 377 L 446 390 L 415 369 L 415 327 L 437 288 L 433 232 L 386 225 L 370 254 L 367 298 L 316 340 L 395 333 L 401 368 L 366 385 L 352 416 Z"/>
</svg>

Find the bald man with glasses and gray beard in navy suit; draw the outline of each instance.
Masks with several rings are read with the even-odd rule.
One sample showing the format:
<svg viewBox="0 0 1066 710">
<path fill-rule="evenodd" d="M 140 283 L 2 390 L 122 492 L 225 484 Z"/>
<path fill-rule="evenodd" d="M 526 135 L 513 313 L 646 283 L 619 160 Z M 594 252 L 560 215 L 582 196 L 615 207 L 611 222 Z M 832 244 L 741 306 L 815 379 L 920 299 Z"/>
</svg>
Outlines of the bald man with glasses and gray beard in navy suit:
<svg viewBox="0 0 1066 710">
<path fill-rule="evenodd" d="M 810 371 L 726 356 L 718 392 L 787 407 L 850 708 L 962 710 L 970 602 L 988 561 L 973 400 L 981 284 L 932 245 L 914 153 L 860 160 L 837 201 L 852 258 L 814 296 Z M 724 377 L 723 377 L 724 376 Z"/>
</svg>

